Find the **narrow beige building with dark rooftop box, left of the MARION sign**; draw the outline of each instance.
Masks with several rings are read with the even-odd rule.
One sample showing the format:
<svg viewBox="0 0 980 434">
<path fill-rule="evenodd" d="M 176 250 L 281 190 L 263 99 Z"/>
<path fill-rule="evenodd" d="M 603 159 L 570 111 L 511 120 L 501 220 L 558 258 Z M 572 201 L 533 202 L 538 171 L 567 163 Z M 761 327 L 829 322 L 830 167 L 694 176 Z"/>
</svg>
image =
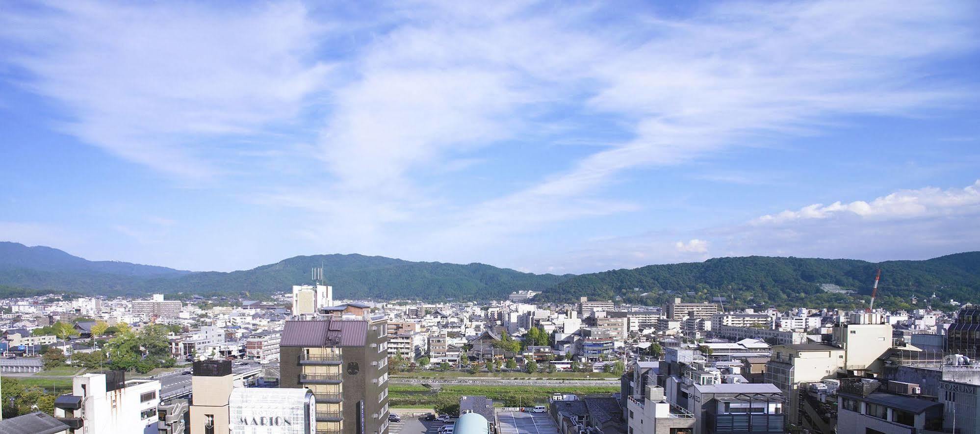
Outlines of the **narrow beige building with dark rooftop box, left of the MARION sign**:
<svg viewBox="0 0 980 434">
<path fill-rule="evenodd" d="M 228 434 L 228 399 L 234 388 L 231 361 L 194 362 L 190 434 Z"/>
</svg>

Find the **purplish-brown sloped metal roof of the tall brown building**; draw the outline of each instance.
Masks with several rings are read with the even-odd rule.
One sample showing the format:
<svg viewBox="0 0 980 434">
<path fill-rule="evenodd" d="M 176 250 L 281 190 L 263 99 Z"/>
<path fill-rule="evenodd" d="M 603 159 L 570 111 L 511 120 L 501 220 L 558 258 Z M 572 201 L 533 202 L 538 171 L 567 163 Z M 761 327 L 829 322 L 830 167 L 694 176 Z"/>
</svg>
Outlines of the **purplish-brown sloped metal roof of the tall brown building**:
<svg viewBox="0 0 980 434">
<path fill-rule="evenodd" d="M 282 347 L 364 347 L 368 321 L 318 319 L 286 321 L 279 346 Z"/>
</svg>

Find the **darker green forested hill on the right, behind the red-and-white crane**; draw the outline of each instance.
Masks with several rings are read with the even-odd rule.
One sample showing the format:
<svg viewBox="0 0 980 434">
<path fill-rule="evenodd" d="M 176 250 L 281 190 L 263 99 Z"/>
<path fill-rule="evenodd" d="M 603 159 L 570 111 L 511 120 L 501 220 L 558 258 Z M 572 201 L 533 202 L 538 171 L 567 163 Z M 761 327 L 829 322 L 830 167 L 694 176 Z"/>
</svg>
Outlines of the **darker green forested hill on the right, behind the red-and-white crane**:
<svg viewBox="0 0 980 434">
<path fill-rule="evenodd" d="M 733 307 L 756 305 L 819 307 L 846 297 L 823 292 L 832 283 L 869 296 L 875 270 L 882 269 L 876 303 L 907 304 L 934 292 L 943 301 L 980 302 L 980 252 L 960 253 L 928 261 L 887 261 L 808 258 L 715 258 L 703 263 L 647 265 L 634 269 L 580 274 L 559 283 L 536 301 L 573 302 L 617 299 L 659 306 L 674 297 L 709 301 L 725 297 Z M 869 298 L 869 297 L 864 297 Z M 904 302 L 903 302 L 904 301 Z M 825 306 L 825 305 L 824 305 Z M 876 305 L 882 306 L 883 305 Z"/>
</svg>

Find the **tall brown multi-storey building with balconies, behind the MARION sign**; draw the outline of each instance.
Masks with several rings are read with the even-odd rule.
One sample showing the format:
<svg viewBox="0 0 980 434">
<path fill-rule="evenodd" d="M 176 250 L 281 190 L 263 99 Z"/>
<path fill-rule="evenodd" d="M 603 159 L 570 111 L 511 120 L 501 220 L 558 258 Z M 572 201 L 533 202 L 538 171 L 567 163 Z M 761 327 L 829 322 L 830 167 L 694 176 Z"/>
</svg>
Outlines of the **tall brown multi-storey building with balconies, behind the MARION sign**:
<svg viewBox="0 0 980 434">
<path fill-rule="evenodd" d="M 388 432 L 388 344 L 384 315 L 286 321 L 279 387 L 317 398 L 318 434 Z"/>
</svg>

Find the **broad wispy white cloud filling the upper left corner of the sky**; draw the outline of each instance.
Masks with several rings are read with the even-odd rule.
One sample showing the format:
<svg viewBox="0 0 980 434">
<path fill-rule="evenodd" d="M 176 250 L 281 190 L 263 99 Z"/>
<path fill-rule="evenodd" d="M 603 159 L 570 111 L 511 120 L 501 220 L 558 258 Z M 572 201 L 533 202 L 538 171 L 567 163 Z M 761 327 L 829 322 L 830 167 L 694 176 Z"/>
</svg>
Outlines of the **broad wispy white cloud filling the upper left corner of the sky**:
<svg viewBox="0 0 980 434">
<path fill-rule="evenodd" d="M 299 3 L 56 2 L 0 18 L 5 61 L 69 110 L 62 128 L 178 179 L 227 171 L 209 139 L 289 121 L 324 84 L 319 24 Z M 38 12 L 40 11 L 40 12 Z"/>
</svg>

